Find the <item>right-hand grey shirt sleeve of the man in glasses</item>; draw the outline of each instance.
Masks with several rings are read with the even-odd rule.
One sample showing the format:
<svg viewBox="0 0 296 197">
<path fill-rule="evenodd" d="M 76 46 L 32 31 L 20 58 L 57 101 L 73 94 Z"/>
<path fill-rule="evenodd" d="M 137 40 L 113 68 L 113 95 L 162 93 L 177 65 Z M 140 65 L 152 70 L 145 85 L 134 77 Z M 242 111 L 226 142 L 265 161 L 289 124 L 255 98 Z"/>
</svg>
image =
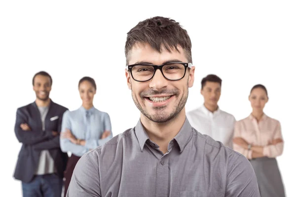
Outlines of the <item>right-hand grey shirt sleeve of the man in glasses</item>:
<svg viewBox="0 0 296 197">
<path fill-rule="evenodd" d="M 260 197 L 256 174 L 245 157 L 239 155 L 227 171 L 225 197 Z"/>
</svg>

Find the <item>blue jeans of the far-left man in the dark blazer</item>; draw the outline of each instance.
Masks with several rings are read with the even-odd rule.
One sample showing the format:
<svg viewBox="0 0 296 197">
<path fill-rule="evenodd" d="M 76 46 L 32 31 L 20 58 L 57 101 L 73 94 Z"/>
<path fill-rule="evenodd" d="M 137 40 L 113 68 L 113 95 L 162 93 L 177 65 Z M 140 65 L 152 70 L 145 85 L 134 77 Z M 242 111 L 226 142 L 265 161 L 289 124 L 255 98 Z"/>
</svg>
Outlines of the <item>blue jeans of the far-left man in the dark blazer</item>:
<svg viewBox="0 0 296 197">
<path fill-rule="evenodd" d="M 23 197 L 61 197 L 63 179 L 56 174 L 36 175 L 30 183 L 22 182 Z"/>
</svg>

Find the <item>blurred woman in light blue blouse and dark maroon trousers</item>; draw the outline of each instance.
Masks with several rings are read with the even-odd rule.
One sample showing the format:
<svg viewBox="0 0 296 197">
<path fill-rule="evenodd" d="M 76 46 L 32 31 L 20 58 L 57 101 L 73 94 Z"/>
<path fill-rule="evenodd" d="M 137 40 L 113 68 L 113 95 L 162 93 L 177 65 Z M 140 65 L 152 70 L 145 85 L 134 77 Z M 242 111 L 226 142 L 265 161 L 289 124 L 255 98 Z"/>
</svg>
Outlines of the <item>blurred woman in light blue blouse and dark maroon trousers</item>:
<svg viewBox="0 0 296 197">
<path fill-rule="evenodd" d="M 63 115 L 60 145 L 63 152 L 72 153 L 65 171 L 65 197 L 79 158 L 112 138 L 108 113 L 96 109 L 93 105 L 96 89 L 94 79 L 80 79 L 78 90 L 82 106 L 74 111 L 68 110 Z"/>
</svg>

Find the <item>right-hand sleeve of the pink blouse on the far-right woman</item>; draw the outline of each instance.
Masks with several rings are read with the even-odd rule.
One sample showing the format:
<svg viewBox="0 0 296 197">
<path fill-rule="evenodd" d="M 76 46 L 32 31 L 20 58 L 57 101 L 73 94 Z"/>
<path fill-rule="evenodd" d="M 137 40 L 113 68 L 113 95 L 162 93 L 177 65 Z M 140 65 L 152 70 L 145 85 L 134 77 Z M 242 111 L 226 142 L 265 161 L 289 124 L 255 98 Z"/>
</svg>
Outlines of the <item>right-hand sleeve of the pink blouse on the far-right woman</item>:
<svg viewBox="0 0 296 197">
<path fill-rule="evenodd" d="M 283 139 L 282 131 L 281 131 L 281 124 L 277 122 L 273 139 Z M 269 158 L 275 158 L 277 156 L 282 155 L 284 149 L 284 142 L 277 143 L 275 145 L 267 145 L 263 147 L 263 155 Z"/>
</svg>

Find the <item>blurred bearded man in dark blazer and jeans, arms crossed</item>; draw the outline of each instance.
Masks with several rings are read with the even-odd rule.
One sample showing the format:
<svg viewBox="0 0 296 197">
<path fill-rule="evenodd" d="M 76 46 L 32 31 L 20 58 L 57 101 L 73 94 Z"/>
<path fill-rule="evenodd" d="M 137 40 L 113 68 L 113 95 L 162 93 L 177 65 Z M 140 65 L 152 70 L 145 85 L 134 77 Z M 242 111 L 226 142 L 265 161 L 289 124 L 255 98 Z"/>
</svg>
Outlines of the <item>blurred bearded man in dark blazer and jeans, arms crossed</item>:
<svg viewBox="0 0 296 197">
<path fill-rule="evenodd" d="M 23 197 L 61 197 L 68 155 L 60 149 L 62 117 L 67 110 L 49 98 L 51 76 L 33 77 L 36 100 L 16 112 L 15 135 L 22 148 L 14 177 L 22 181 Z"/>
</svg>

